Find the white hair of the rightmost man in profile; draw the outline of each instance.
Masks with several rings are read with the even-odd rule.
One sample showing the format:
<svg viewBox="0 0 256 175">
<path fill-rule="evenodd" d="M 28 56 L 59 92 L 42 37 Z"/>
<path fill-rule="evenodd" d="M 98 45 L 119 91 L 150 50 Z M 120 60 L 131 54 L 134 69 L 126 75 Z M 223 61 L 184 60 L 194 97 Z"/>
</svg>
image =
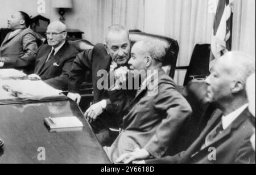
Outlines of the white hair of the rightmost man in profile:
<svg viewBox="0 0 256 175">
<path fill-rule="evenodd" d="M 255 58 L 238 51 L 228 52 L 222 57 L 227 58 L 230 58 L 230 71 L 246 87 L 247 78 L 255 73 Z"/>
</svg>

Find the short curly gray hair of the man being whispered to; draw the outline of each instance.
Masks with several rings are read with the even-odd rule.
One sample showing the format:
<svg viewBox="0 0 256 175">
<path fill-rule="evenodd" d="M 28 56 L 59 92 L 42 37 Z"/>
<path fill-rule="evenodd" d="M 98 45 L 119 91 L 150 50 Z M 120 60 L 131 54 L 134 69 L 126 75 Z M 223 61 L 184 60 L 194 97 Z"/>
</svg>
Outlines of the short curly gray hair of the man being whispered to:
<svg viewBox="0 0 256 175">
<path fill-rule="evenodd" d="M 163 63 L 168 46 L 166 42 L 155 39 L 147 39 L 139 42 L 142 42 L 141 50 L 143 55 L 148 55 L 156 62 Z"/>
</svg>

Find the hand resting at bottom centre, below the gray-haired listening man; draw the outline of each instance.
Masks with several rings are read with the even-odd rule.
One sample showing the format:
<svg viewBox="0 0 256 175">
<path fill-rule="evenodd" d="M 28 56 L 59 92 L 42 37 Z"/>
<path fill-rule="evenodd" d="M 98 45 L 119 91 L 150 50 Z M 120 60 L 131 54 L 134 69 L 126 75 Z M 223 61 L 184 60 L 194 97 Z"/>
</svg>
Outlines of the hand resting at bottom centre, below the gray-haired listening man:
<svg viewBox="0 0 256 175">
<path fill-rule="evenodd" d="M 121 155 L 116 162 L 121 163 L 123 162 L 124 164 L 129 164 L 133 162 L 134 160 L 143 160 L 147 159 L 150 157 L 150 153 L 147 152 L 145 149 L 135 149 L 134 152 L 131 153 L 124 153 Z"/>
</svg>

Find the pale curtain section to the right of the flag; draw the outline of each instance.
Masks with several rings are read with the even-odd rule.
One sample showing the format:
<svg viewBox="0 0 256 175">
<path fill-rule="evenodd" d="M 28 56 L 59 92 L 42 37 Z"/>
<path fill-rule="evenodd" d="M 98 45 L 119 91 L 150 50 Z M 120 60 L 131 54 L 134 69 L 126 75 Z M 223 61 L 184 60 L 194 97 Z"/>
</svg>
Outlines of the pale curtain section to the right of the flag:
<svg viewBox="0 0 256 175">
<path fill-rule="evenodd" d="M 255 58 L 255 0 L 235 0 L 232 49 Z"/>
</svg>

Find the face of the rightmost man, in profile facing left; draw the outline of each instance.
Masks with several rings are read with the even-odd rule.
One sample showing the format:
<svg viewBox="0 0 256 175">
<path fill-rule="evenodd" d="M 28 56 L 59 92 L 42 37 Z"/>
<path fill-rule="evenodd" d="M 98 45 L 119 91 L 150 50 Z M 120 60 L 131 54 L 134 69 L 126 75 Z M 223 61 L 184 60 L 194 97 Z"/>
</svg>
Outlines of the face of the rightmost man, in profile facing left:
<svg viewBox="0 0 256 175">
<path fill-rule="evenodd" d="M 217 60 L 215 62 L 205 82 L 208 84 L 207 96 L 210 101 L 218 104 L 232 96 L 234 79 L 224 61 Z"/>
</svg>

